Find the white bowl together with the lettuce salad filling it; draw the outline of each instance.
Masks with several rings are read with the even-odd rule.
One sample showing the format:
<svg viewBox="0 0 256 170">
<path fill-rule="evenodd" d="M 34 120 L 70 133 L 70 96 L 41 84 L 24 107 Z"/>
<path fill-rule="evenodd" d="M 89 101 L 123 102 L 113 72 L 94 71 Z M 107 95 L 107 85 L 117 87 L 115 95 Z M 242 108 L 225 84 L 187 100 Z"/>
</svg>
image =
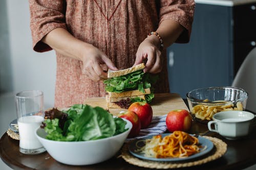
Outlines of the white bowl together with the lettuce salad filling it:
<svg viewBox="0 0 256 170">
<path fill-rule="evenodd" d="M 45 112 L 38 140 L 58 162 L 89 165 L 113 157 L 132 129 L 129 120 L 114 117 L 101 107 L 73 105 L 68 110 Z"/>
</svg>

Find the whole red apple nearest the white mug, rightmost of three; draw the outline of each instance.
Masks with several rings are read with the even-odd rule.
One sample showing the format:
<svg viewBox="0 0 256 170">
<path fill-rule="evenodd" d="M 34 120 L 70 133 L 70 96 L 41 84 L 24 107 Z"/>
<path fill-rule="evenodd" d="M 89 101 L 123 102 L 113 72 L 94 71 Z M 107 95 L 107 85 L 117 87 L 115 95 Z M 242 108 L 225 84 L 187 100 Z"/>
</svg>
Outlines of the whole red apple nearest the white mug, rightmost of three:
<svg viewBox="0 0 256 170">
<path fill-rule="evenodd" d="M 187 132 L 191 127 L 192 118 L 185 109 L 172 110 L 167 114 L 165 122 L 169 132 Z"/>
</svg>

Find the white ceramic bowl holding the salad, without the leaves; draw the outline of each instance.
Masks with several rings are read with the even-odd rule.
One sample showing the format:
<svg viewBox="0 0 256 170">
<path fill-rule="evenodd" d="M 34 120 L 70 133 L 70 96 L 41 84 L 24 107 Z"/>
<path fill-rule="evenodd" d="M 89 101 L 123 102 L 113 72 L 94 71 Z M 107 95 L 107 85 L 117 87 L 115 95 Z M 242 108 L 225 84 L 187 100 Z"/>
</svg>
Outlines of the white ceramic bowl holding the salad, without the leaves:
<svg viewBox="0 0 256 170">
<path fill-rule="evenodd" d="M 103 139 L 89 141 L 55 141 L 46 139 L 44 129 L 38 128 L 35 133 L 47 152 L 58 162 L 69 165 L 89 165 L 113 157 L 122 147 L 132 129 L 132 123 L 127 122 L 127 131 Z"/>
</svg>

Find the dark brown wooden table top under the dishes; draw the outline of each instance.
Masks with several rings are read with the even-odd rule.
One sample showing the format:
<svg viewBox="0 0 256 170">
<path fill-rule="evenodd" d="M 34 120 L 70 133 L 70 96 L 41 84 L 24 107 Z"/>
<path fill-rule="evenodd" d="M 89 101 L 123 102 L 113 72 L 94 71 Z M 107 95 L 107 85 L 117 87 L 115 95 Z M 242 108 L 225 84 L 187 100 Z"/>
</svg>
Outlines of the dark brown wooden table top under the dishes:
<svg viewBox="0 0 256 170">
<path fill-rule="evenodd" d="M 206 124 L 194 121 L 189 133 L 199 134 L 206 131 Z M 239 140 L 228 140 L 217 133 L 207 135 L 226 142 L 227 152 L 217 160 L 181 169 L 243 169 L 256 163 L 256 126 L 251 128 L 248 136 Z M 71 166 L 55 161 L 47 152 L 33 156 L 24 155 L 19 152 L 19 141 L 9 137 L 7 133 L 0 139 L 0 156 L 13 169 L 148 169 L 129 164 L 121 157 L 113 157 L 94 165 Z"/>
</svg>

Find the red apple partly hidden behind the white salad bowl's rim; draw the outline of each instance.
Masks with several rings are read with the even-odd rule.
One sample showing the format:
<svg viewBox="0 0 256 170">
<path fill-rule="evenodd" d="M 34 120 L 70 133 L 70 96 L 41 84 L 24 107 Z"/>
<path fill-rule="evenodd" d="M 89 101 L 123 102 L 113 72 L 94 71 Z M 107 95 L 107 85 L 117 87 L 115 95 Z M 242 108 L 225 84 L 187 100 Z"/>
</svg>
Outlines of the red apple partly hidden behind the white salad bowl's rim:
<svg viewBox="0 0 256 170">
<path fill-rule="evenodd" d="M 133 124 L 133 127 L 132 127 L 128 137 L 135 137 L 140 133 L 140 127 L 141 127 L 140 126 L 140 119 L 139 119 L 139 117 L 136 113 L 134 113 L 133 111 L 128 110 L 126 112 L 118 114 L 118 117 L 125 118 Z"/>
</svg>

